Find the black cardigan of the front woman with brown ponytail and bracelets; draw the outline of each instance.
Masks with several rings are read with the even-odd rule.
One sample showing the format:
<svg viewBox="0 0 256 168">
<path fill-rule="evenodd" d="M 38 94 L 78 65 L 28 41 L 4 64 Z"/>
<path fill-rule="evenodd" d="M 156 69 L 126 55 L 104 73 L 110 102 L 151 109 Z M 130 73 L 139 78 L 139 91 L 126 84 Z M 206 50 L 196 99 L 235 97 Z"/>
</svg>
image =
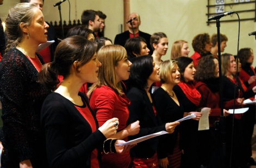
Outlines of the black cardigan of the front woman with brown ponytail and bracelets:
<svg viewBox="0 0 256 168">
<path fill-rule="evenodd" d="M 79 95 L 89 106 L 88 98 Z M 97 128 L 95 113 L 89 107 Z M 51 93 L 43 102 L 41 124 L 46 132 L 46 151 L 51 167 L 91 167 L 91 152 L 98 154 L 106 140 L 101 131 L 92 133 L 91 126 L 74 104 L 58 93 Z"/>
</svg>

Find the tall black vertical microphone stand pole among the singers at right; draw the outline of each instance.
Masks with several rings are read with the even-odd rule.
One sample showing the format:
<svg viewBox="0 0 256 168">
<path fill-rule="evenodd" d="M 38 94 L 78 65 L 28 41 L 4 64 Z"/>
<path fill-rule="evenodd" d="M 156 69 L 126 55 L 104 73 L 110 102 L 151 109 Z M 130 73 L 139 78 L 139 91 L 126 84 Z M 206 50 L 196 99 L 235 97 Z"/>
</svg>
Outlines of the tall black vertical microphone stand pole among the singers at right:
<svg viewBox="0 0 256 168">
<path fill-rule="evenodd" d="M 223 90 L 222 90 L 222 75 L 221 75 L 221 42 L 220 42 L 220 20 L 216 20 L 216 27 L 217 27 L 217 41 L 218 41 L 218 73 L 220 76 L 220 107 L 221 107 L 221 116 L 220 121 L 215 121 L 215 126 L 220 126 L 220 132 L 222 137 L 222 150 L 223 150 L 223 161 L 222 161 L 222 167 L 224 167 L 225 163 L 224 160 L 226 160 L 227 157 L 227 146 L 226 146 L 226 116 L 224 116 L 223 113 Z M 218 124 L 219 123 L 219 124 Z M 216 129 L 216 127 L 215 127 Z M 217 130 L 217 129 L 216 129 Z"/>
</svg>

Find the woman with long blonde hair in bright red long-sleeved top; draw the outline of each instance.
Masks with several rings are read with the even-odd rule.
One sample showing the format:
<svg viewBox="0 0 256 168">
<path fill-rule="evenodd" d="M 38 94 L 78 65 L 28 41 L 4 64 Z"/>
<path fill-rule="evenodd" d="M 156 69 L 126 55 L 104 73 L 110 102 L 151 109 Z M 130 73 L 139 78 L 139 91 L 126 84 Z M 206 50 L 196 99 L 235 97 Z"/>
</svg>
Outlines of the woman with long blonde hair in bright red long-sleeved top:
<svg viewBox="0 0 256 168">
<path fill-rule="evenodd" d="M 126 50 L 122 46 L 108 45 L 98 50 L 97 58 L 102 62 L 99 67 L 98 81 L 88 92 L 90 107 L 96 113 L 99 126 L 115 117 L 119 119 L 117 133 L 111 137 L 127 141 L 129 135 L 139 133 L 139 121 L 126 126 L 129 117 L 130 100 L 122 91 L 121 82 L 130 75 L 132 63 L 127 59 Z M 130 153 L 103 154 L 101 167 L 129 167 Z"/>
</svg>

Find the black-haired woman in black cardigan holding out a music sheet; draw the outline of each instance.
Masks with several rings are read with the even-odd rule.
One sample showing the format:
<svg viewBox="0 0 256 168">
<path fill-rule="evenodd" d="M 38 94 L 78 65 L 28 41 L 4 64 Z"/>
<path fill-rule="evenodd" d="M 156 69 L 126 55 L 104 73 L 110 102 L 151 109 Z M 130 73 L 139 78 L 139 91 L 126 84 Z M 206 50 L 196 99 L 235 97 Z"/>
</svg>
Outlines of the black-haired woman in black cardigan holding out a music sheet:
<svg viewBox="0 0 256 168">
<path fill-rule="evenodd" d="M 158 73 L 159 66 L 149 55 L 137 57 L 130 67 L 129 82 L 132 88 L 127 93 L 127 98 L 130 99 L 127 125 L 139 120 L 140 132 L 128 137 L 129 140 L 160 131 L 173 133 L 174 128 L 179 124 L 179 122 L 162 124 L 159 113 L 155 110 L 151 86 L 154 82 L 160 81 Z M 157 167 L 157 148 L 158 138 L 148 139 L 132 148 L 130 156 L 133 167 Z"/>
</svg>

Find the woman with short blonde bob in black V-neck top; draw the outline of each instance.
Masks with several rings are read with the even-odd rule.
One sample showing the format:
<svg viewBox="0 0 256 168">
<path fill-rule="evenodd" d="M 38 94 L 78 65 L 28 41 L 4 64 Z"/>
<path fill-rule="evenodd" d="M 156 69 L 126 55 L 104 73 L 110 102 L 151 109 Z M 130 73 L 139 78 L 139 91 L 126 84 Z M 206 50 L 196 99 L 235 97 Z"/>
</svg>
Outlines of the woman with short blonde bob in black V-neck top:
<svg viewBox="0 0 256 168">
<path fill-rule="evenodd" d="M 162 85 L 153 93 L 155 109 L 163 123 L 174 122 L 183 118 L 184 108 L 179 102 L 173 87 L 180 82 L 177 61 L 166 60 L 160 63 L 159 70 Z M 173 134 L 159 138 L 158 159 L 161 167 L 179 167 L 181 151 L 179 150 L 179 126 Z"/>
</svg>

